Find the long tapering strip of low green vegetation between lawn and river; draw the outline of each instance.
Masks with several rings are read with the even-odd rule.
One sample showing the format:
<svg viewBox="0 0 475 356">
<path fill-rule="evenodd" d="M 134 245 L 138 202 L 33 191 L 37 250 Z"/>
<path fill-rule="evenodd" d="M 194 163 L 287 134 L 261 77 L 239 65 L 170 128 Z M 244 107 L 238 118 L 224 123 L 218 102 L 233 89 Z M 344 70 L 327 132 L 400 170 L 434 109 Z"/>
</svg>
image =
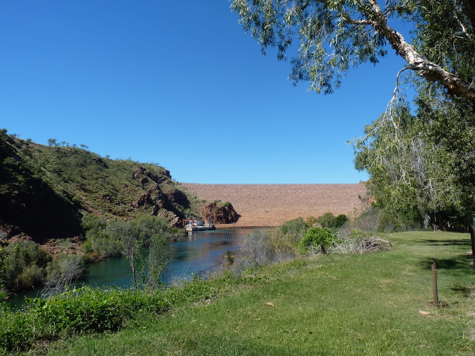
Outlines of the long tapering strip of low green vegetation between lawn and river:
<svg viewBox="0 0 475 356">
<path fill-rule="evenodd" d="M 225 273 L 220 278 L 203 281 L 197 277 L 180 287 L 158 290 L 84 286 L 48 299 L 31 299 L 17 311 L 0 305 L 0 353 L 16 353 L 68 335 L 117 331 L 140 314 L 165 313 L 209 299 L 237 283 L 235 275 Z"/>
</svg>

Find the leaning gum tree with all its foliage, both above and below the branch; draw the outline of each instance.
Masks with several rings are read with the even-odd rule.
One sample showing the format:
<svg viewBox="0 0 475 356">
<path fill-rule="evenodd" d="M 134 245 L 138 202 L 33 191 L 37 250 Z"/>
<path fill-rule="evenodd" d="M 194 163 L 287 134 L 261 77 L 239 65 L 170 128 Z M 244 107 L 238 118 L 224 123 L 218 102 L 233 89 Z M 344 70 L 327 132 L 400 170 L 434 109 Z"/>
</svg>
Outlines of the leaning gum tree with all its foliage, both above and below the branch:
<svg viewBox="0 0 475 356">
<path fill-rule="evenodd" d="M 475 213 L 474 0 L 235 0 L 232 10 L 261 44 L 290 51 L 294 81 L 331 93 L 350 67 L 376 64 L 392 47 L 406 61 L 384 114 L 355 140 L 355 164 L 379 204 L 417 212 L 434 228 Z M 412 24 L 410 40 L 397 27 Z M 417 91 L 404 100 L 400 82 Z M 414 109 L 415 107 L 415 109 Z"/>
</svg>

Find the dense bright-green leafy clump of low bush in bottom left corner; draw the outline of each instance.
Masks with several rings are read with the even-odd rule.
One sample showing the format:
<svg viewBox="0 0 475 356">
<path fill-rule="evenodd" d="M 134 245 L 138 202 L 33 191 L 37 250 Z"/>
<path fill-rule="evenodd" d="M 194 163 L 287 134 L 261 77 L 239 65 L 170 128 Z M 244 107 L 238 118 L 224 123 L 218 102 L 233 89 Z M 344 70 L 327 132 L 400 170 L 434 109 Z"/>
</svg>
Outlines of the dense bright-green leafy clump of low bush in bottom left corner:
<svg viewBox="0 0 475 356">
<path fill-rule="evenodd" d="M 0 308 L 0 349 L 24 350 L 60 335 L 116 331 L 139 312 L 169 309 L 160 291 L 82 287 L 48 299 L 32 299 L 22 310 Z"/>
</svg>

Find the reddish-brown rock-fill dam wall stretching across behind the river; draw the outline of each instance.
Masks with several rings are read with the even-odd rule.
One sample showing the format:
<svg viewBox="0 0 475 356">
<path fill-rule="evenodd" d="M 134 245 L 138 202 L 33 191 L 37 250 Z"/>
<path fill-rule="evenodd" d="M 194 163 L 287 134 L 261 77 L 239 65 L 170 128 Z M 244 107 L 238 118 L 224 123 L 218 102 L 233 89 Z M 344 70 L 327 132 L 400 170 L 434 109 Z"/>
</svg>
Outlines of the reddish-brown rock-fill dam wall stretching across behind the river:
<svg viewBox="0 0 475 356">
<path fill-rule="evenodd" d="M 234 226 L 280 226 L 298 217 L 326 212 L 358 214 L 364 184 L 195 184 L 181 183 L 203 199 L 229 201 L 241 215 Z"/>
</svg>

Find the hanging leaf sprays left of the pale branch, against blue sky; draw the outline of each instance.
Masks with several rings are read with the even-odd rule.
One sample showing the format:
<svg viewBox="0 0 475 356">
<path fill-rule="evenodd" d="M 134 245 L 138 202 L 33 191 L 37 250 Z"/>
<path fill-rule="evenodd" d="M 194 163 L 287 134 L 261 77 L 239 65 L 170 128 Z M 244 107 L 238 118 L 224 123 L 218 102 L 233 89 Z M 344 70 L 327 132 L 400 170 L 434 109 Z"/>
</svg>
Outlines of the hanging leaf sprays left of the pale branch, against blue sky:
<svg viewBox="0 0 475 356">
<path fill-rule="evenodd" d="M 309 90 L 329 94 L 340 86 L 350 66 L 377 63 L 386 54 L 382 35 L 367 23 L 350 21 L 351 16 L 372 14 L 363 7 L 341 0 L 235 0 L 231 10 L 239 14 L 239 23 L 258 41 L 263 54 L 268 47 L 276 47 L 277 59 L 285 60 L 288 50 L 297 52 L 290 61 L 289 79 L 294 85 L 309 81 Z"/>
</svg>

